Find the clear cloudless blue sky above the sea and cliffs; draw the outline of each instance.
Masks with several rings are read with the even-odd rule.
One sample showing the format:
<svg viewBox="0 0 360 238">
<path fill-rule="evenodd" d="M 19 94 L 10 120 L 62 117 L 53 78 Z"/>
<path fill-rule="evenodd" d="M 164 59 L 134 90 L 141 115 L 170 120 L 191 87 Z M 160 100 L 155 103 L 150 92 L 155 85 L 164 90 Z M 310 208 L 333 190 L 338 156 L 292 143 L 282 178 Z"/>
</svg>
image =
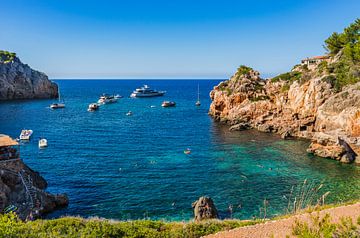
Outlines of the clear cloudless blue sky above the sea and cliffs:
<svg viewBox="0 0 360 238">
<path fill-rule="evenodd" d="M 2 0 L 0 49 L 61 78 L 271 76 L 324 53 L 358 0 Z"/>
</svg>

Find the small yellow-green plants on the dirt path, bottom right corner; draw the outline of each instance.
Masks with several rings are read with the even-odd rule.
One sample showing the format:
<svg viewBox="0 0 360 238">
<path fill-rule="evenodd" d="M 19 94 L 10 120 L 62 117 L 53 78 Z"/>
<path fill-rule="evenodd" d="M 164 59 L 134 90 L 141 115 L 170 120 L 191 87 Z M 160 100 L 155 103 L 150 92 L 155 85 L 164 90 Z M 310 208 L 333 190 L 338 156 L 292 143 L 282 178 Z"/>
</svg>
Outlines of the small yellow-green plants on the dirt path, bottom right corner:
<svg viewBox="0 0 360 238">
<path fill-rule="evenodd" d="M 339 224 L 334 224 L 331 223 L 329 214 L 323 218 L 320 216 L 311 217 L 310 225 L 296 221 L 292 232 L 293 235 L 303 238 L 355 238 L 360 236 L 360 228 L 353 224 L 351 218 L 341 218 Z"/>
</svg>

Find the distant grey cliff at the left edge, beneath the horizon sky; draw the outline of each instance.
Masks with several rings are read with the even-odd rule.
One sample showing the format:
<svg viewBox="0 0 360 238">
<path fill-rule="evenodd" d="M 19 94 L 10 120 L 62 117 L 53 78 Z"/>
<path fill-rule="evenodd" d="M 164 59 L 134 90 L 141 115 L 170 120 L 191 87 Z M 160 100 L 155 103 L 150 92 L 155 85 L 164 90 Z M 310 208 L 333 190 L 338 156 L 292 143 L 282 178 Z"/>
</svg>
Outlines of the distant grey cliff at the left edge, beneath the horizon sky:
<svg viewBox="0 0 360 238">
<path fill-rule="evenodd" d="M 0 100 L 57 98 L 58 86 L 23 64 L 14 53 L 0 51 Z"/>
</svg>

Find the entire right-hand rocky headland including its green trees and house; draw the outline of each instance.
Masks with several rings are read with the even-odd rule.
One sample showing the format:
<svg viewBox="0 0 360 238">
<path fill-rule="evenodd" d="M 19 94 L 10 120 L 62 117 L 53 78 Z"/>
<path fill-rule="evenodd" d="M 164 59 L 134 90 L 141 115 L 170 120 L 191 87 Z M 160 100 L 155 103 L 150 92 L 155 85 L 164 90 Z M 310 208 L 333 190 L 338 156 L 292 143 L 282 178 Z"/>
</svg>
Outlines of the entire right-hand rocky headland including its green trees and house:
<svg viewBox="0 0 360 238">
<path fill-rule="evenodd" d="M 310 139 L 308 152 L 360 163 L 359 29 L 357 20 L 326 40 L 327 55 L 304 59 L 274 78 L 262 79 L 258 71 L 240 66 L 210 92 L 209 114 L 230 130 Z"/>
</svg>

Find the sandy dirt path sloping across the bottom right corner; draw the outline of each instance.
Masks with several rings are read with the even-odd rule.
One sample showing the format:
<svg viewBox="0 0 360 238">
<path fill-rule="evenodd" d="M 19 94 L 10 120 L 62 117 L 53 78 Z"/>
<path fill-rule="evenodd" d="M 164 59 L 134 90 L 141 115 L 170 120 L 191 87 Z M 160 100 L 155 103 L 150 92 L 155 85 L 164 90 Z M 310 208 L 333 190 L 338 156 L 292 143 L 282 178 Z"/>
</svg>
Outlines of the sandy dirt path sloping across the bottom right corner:
<svg viewBox="0 0 360 238">
<path fill-rule="evenodd" d="M 263 224 L 257 224 L 252 226 L 240 227 L 230 231 L 223 231 L 213 235 L 206 236 L 206 238 L 234 238 L 234 237 L 286 237 L 292 232 L 292 226 L 296 219 L 300 221 L 310 222 L 310 215 L 316 215 L 318 212 L 306 213 L 301 215 L 295 215 L 286 219 L 268 221 Z M 326 213 L 331 216 L 332 222 L 339 222 L 341 217 L 351 217 L 353 222 L 356 223 L 357 218 L 360 216 L 360 203 L 353 205 L 347 205 L 336 208 L 329 208 L 319 212 L 323 217 Z"/>
</svg>

